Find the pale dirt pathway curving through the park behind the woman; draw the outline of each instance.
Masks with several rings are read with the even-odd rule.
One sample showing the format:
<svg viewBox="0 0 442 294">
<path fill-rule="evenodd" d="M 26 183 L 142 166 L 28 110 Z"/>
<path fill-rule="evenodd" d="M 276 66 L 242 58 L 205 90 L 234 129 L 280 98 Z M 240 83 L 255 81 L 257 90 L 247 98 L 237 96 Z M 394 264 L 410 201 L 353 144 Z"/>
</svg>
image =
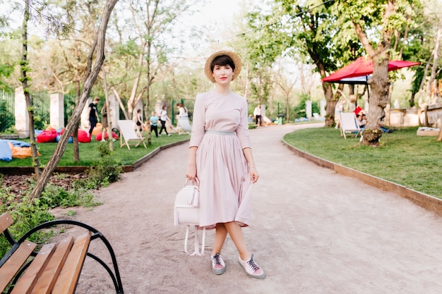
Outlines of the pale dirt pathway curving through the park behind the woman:
<svg viewBox="0 0 442 294">
<path fill-rule="evenodd" d="M 442 219 L 398 195 L 311 164 L 281 144 L 285 133 L 314 126 L 250 132 L 261 178 L 244 233 L 267 274 L 263 281 L 244 274 L 229 239 L 222 252 L 227 271 L 213 275 L 213 231 L 205 256 L 181 252 L 184 227 L 174 226 L 172 211 L 185 180 L 186 144 L 160 152 L 98 191 L 103 204 L 78 209 L 75 218 L 112 243 L 127 294 L 442 293 Z M 112 293 L 106 275 L 87 260 L 77 293 Z"/>
</svg>

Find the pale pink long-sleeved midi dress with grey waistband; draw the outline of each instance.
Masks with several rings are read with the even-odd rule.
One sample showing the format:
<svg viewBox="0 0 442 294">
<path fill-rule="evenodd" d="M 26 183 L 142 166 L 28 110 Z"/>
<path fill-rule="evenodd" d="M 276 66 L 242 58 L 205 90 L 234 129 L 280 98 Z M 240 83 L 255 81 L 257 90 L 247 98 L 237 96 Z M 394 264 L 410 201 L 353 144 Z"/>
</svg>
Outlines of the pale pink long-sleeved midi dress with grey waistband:
<svg viewBox="0 0 442 294">
<path fill-rule="evenodd" d="M 230 92 L 196 96 L 190 147 L 200 180 L 200 226 L 235 221 L 249 226 L 252 183 L 242 149 L 251 147 L 247 102 Z"/>
</svg>

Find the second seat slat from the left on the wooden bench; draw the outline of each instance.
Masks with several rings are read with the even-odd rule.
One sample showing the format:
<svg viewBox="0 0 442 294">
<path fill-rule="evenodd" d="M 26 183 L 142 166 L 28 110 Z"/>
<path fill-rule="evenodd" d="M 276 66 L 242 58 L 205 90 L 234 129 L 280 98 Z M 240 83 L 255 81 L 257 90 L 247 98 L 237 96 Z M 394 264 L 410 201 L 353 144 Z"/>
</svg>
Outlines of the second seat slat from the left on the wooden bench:
<svg viewBox="0 0 442 294">
<path fill-rule="evenodd" d="M 42 249 L 40 249 L 37 256 L 34 258 L 34 260 L 32 260 L 28 269 L 26 269 L 25 273 L 18 279 L 11 294 L 30 293 L 30 290 L 32 290 L 35 283 L 37 283 L 38 278 L 40 278 L 42 272 L 44 271 L 44 267 L 46 267 L 47 263 L 54 254 L 55 248 L 56 244 L 52 243 L 46 244 L 42 247 Z"/>
</svg>

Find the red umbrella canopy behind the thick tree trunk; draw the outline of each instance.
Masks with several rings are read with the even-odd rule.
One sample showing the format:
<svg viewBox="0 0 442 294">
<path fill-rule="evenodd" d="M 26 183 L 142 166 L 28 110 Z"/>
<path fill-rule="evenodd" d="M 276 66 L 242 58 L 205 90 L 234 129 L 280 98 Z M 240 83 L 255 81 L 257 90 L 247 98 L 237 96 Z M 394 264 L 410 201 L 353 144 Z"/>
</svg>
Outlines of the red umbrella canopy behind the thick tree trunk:
<svg viewBox="0 0 442 294">
<path fill-rule="evenodd" d="M 390 60 L 388 62 L 388 71 L 396 71 L 399 68 L 417 66 L 420 62 Z M 364 56 L 359 57 L 352 63 L 340 68 L 335 73 L 322 79 L 323 82 L 339 82 L 343 84 L 366 84 L 369 75 L 373 73 L 373 61 Z"/>
</svg>

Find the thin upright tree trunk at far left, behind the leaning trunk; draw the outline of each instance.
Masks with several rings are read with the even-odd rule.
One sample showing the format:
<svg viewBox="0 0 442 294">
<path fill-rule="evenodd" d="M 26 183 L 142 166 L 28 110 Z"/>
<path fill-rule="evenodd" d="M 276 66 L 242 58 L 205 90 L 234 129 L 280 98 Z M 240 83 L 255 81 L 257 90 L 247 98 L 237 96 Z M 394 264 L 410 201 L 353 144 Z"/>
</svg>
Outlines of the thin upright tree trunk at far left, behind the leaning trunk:
<svg viewBox="0 0 442 294">
<path fill-rule="evenodd" d="M 29 13 L 30 5 L 29 0 L 25 0 L 25 13 L 23 15 L 23 47 L 20 63 L 21 82 L 23 85 L 23 94 L 25 94 L 26 108 L 28 109 L 29 116 L 29 140 L 32 152 L 32 164 L 34 164 L 34 173 L 36 178 L 40 178 L 40 160 L 38 159 L 37 142 L 35 140 L 35 128 L 34 128 L 34 106 L 32 103 L 32 97 L 30 97 L 30 90 L 28 87 L 28 20 L 30 18 Z"/>
</svg>

